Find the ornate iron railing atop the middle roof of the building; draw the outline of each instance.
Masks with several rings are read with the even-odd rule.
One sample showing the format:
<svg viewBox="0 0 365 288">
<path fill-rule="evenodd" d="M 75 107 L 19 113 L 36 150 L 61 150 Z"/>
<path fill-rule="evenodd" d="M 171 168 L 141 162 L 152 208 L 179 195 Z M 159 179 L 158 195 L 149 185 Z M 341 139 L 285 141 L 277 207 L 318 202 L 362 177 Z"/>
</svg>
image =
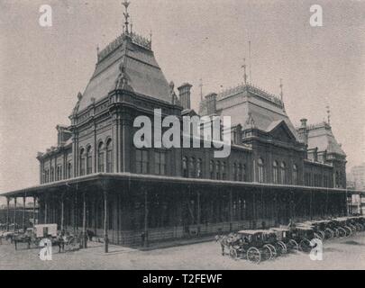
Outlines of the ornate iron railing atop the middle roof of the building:
<svg viewBox="0 0 365 288">
<path fill-rule="evenodd" d="M 253 85 L 253 84 L 247 84 L 247 85 L 242 84 L 242 85 L 228 88 L 228 89 L 224 90 L 223 92 L 221 92 L 220 94 L 218 94 L 217 99 L 222 100 L 226 97 L 232 96 L 234 94 L 240 94 L 243 92 L 250 92 L 252 94 L 257 94 L 260 97 L 262 97 L 266 100 L 269 100 L 270 102 L 277 103 L 278 105 L 283 106 L 282 101 L 278 98 L 277 95 L 271 94 L 271 93 L 265 91 L 264 89 L 262 89 L 256 85 Z"/>
</svg>

